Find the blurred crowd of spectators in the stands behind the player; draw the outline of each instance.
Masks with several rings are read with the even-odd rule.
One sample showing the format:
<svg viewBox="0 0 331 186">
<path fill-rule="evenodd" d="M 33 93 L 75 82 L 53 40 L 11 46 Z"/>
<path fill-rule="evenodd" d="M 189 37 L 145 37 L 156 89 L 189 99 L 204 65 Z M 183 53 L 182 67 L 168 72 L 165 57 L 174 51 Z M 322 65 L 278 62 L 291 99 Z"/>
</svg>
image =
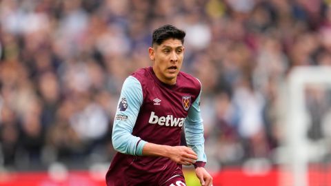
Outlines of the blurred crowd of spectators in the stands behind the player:
<svg viewBox="0 0 331 186">
<path fill-rule="evenodd" d="M 121 85 L 152 65 L 165 23 L 187 32 L 210 165 L 275 163 L 279 87 L 294 66 L 331 65 L 331 1 L 0 1 L 0 167 L 111 161 Z"/>
</svg>

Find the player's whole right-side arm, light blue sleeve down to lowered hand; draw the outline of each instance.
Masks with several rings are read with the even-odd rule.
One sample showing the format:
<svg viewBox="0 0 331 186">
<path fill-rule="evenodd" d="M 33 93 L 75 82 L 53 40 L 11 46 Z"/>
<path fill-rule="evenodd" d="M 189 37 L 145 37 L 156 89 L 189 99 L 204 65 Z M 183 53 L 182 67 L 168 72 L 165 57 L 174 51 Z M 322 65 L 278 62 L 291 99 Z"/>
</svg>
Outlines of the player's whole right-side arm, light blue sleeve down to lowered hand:
<svg viewBox="0 0 331 186">
<path fill-rule="evenodd" d="M 194 103 L 192 103 L 190 110 L 188 110 L 184 132 L 188 147 L 191 147 L 198 156 L 197 162 L 194 163 L 195 174 L 199 178 L 201 185 L 210 186 L 212 185 L 212 176 L 204 168 L 207 157 L 204 151 L 205 139 L 203 137 L 203 120 L 200 112 L 200 96 L 201 92 Z"/>
</svg>

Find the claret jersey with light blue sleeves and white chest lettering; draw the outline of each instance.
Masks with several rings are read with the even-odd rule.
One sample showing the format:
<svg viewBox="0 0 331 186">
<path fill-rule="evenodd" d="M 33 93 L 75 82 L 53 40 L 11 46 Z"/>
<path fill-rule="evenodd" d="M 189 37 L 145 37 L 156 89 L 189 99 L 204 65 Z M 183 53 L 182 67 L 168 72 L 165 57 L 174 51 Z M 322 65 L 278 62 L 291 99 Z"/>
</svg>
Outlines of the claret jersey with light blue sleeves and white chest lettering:
<svg viewBox="0 0 331 186">
<path fill-rule="evenodd" d="M 200 94 L 201 83 L 184 72 L 175 85 L 159 81 L 152 67 L 131 74 L 123 83 L 114 118 L 112 143 L 119 152 L 106 175 L 107 185 L 163 185 L 182 175 L 181 165 L 169 158 L 141 154 L 148 142 L 180 145 L 183 129 L 197 161 L 206 162 Z"/>
</svg>

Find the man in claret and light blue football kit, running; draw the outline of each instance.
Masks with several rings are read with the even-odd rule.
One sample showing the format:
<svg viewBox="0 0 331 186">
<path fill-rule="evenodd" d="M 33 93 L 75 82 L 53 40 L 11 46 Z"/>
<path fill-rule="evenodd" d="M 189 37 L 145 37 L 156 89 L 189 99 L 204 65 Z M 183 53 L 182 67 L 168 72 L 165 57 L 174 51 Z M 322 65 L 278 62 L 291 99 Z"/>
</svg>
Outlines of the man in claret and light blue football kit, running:
<svg viewBox="0 0 331 186">
<path fill-rule="evenodd" d="M 183 186 L 181 166 L 191 164 L 201 185 L 212 185 L 204 168 L 201 84 L 180 72 L 184 37 L 172 25 L 154 30 L 148 49 L 152 67 L 123 83 L 112 131 L 118 153 L 106 175 L 108 186 Z M 182 127 L 188 147 L 180 146 Z"/>
</svg>

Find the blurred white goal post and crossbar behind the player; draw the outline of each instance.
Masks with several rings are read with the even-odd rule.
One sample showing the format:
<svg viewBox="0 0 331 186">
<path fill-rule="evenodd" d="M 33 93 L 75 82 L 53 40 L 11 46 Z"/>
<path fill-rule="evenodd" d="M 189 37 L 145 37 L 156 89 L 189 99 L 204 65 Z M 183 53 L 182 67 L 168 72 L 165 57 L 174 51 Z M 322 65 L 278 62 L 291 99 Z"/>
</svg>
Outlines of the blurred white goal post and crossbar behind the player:
<svg viewBox="0 0 331 186">
<path fill-rule="evenodd" d="M 285 138 L 282 152 L 283 169 L 281 186 L 308 186 L 309 139 L 307 137 L 310 115 L 305 105 L 307 85 L 331 87 L 331 67 L 302 66 L 293 68 L 281 90 L 282 113 L 285 116 Z"/>
</svg>

